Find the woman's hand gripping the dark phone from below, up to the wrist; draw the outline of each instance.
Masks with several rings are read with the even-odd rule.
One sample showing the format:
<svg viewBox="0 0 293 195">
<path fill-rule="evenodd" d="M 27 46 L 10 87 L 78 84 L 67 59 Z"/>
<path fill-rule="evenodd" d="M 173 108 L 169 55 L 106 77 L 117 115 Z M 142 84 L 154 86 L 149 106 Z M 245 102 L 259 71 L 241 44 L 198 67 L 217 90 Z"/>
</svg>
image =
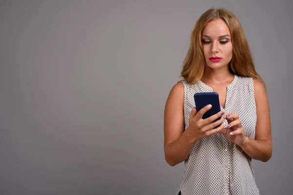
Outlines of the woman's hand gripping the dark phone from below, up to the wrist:
<svg viewBox="0 0 293 195">
<path fill-rule="evenodd" d="M 203 115 L 211 108 L 211 105 L 203 107 L 201 110 L 196 112 L 195 107 L 190 112 L 189 115 L 189 126 L 187 131 L 189 135 L 194 137 L 196 140 L 204 137 L 211 136 L 213 134 L 219 133 L 224 128 L 224 112 L 218 112 L 208 118 L 202 119 Z M 219 120 L 217 118 L 221 117 Z M 215 128 L 216 126 L 219 127 Z M 213 129 L 215 128 L 215 129 Z"/>
</svg>

